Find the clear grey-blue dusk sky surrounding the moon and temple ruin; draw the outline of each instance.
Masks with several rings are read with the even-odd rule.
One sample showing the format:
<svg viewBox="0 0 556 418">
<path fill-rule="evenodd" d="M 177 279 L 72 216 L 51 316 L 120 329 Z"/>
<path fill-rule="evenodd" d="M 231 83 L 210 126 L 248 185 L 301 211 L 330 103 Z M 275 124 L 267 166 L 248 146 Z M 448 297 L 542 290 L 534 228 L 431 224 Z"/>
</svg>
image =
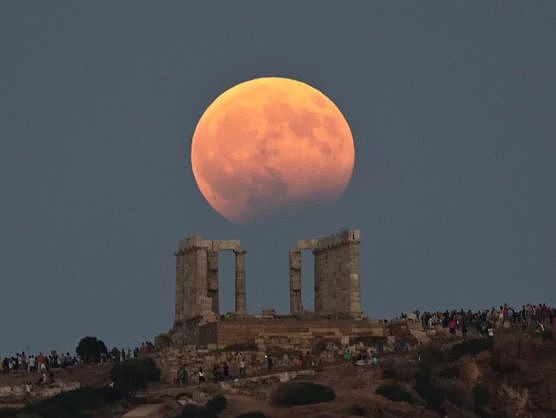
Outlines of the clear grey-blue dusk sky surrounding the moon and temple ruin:
<svg viewBox="0 0 556 418">
<path fill-rule="evenodd" d="M 177 242 L 239 239 L 252 313 L 288 249 L 361 231 L 372 318 L 556 304 L 556 3 L 0 3 L 0 355 L 129 347 L 174 319 Z M 355 143 L 344 195 L 234 225 L 191 172 L 205 108 L 301 80 Z M 304 254 L 310 307 L 312 255 Z M 221 256 L 233 309 L 233 255 Z"/>
</svg>

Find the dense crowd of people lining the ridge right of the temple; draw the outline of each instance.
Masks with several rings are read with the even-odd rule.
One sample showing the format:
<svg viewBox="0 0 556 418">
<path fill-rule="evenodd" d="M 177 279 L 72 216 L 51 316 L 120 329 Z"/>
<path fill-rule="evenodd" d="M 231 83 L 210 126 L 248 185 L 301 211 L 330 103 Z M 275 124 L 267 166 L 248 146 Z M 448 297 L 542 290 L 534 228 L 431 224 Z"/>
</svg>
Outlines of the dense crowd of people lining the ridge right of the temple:
<svg viewBox="0 0 556 418">
<path fill-rule="evenodd" d="M 479 311 L 452 310 L 443 312 L 419 312 L 411 315 L 420 321 L 423 329 L 434 329 L 437 326 L 448 328 L 451 334 L 460 331 L 466 335 L 469 329 L 475 329 L 480 334 L 489 335 L 493 330 L 502 327 L 521 327 L 544 330 L 556 323 L 556 308 L 542 304 L 527 304 L 521 308 L 514 308 L 508 304 Z M 408 315 L 402 315 L 408 318 Z"/>
</svg>

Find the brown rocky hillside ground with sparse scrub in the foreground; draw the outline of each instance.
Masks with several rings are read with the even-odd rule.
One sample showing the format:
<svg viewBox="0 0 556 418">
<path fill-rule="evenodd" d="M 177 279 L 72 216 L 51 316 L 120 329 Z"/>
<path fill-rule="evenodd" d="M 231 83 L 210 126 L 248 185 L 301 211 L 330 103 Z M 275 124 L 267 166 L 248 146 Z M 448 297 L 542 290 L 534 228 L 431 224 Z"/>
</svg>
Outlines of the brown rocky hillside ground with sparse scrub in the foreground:
<svg viewBox="0 0 556 418">
<path fill-rule="evenodd" d="M 470 341 L 470 339 L 467 339 Z M 476 341 L 476 340 L 473 340 Z M 486 343 L 485 343 L 486 341 Z M 499 330 L 494 340 L 461 345 L 461 338 L 438 338 L 420 349 L 380 357 L 378 365 L 339 362 L 322 371 L 277 371 L 238 381 L 177 388 L 158 383 L 137 394 L 139 402 L 163 403 L 167 416 L 183 404 L 204 404 L 216 394 L 228 401 L 222 418 L 262 411 L 274 418 L 332 417 L 556 417 L 556 342 L 550 333 Z M 0 386 L 24 377 L 1 377 Z M 59 371 L 58 381 L 105 385 L 109 366 Z M 282 407 L 272 394 L 286 380 L 313 381 L 334 389 L 331 402 Z M 22 380 L 23 381 L 23 380 Z M 400 388 L 404 401 L 375 393 Z M 356 405 L 357 407 L 354 407 Z M 97 418 L 121 417 L 132 405 L 120 402 L 94 411 Z"/>
</svg>

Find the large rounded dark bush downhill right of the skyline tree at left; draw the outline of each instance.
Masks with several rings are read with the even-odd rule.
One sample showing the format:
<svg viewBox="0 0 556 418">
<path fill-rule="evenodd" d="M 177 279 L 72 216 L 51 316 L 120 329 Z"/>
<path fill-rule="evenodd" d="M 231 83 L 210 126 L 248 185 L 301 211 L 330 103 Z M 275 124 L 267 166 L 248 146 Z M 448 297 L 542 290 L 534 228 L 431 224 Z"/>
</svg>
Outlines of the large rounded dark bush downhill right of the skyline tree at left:
<svg viewBox="0 0 556 418">
<path fill-rule="evenodd" d="M 114 388 L 128 397 L 134 396 L 137 389 L 143 389 L 149 382 L 160 380 L 160 369 L 150 357 L 126 360 L 112 367 L 110 376 Z"/>
</svg>

